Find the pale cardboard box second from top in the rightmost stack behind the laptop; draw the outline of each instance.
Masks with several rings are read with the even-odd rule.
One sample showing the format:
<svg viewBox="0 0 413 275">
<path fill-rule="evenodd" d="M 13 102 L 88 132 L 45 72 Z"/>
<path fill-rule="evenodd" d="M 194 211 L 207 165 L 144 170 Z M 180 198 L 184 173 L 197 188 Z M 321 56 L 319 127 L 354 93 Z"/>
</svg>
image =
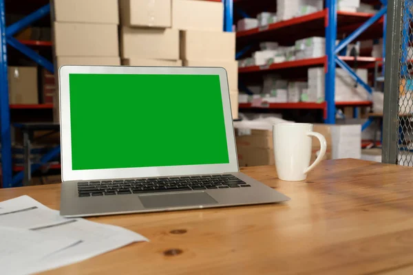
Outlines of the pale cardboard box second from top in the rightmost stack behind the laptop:
<svg viewBox="0 0 413 275">
<path fill-rule="evenodd" d="M 180 57 L 187 61 L 233 61 L 235 33 L 181 31 Z"/>
</svg>

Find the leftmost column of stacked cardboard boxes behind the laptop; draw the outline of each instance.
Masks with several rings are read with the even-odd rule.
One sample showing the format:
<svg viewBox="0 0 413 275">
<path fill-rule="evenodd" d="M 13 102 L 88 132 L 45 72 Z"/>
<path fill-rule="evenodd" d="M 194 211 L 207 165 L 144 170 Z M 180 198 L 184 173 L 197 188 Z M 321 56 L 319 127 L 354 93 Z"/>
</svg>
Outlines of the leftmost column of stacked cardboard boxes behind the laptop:
<svg viewBox="0 0 413 275">
<path fill-rule="evenodd" d="M 62 65 L 120 65 L 117 0 L 54 0 L 52 17 L 56 72 Z"/>
</svg>

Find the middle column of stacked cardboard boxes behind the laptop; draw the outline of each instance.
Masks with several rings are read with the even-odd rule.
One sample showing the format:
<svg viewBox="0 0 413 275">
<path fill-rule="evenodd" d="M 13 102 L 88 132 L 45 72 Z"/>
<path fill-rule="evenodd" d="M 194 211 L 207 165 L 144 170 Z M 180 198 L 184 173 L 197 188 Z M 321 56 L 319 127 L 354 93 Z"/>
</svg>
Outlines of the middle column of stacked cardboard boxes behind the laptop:
<svg viewBox="0 0 413 275">
<path fill-rule="evenodd" d="M 122 65 L 182 65 L 171 0 L 120 0 L 119 8 Z"/>
</svg>

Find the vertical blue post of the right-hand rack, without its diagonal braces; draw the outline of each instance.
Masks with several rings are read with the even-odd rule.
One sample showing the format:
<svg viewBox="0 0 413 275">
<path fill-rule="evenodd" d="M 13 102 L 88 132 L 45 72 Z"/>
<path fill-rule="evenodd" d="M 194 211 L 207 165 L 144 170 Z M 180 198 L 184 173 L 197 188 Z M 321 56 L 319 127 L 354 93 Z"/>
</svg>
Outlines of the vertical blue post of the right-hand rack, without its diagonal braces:
<svg viewBox="0 0 413 275">
<path fill-rule="evenodd" d="M 326 0 L 326 123 L 335 124 L 335 41 L 337 39 L 337 1 Z"/>
</svg>

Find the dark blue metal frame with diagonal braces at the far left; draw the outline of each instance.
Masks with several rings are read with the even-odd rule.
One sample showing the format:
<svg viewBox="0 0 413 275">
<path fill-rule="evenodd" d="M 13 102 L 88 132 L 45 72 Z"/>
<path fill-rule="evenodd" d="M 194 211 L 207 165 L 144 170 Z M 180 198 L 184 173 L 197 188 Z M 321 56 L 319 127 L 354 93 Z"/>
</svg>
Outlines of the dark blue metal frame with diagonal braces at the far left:
<svg viewBox="0 0 413 275">
<path fill-rule="evenodd" d="M 54 72 L 53 63 L 48 61 L 43 56 L 40 56 L 34 50 L 30 49 L 13 38 L 14 34 L 28 27 L 34 21 L 45 17 L 50 13 L 50 4 L 44 5 L 39 10 L 32 12 L 27 17 L 6 27 L 5 19 L 5 3 L 0 0 L 0 129 L 1 129 L 1 166 L 2 166 L 2 182 L 3 188 L 17 186 L 23 179 L 23 172 L 12 177 L 12 140 L 11 140 L 11 125 L 10 125 L 10 107 L 8 97 L 8 63 L 7 63 L 7 44 L 19 50 L 25 56 L 32 59 L 42 67 L 45 67 L 51 73 Z M 41 163 L 47 162 L 54 155 L 60 153 L 60 146 L 42 157 Z M 32 166 L 32 170 L 40 168 L 40 164 Z"/>
</svg>

